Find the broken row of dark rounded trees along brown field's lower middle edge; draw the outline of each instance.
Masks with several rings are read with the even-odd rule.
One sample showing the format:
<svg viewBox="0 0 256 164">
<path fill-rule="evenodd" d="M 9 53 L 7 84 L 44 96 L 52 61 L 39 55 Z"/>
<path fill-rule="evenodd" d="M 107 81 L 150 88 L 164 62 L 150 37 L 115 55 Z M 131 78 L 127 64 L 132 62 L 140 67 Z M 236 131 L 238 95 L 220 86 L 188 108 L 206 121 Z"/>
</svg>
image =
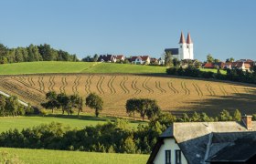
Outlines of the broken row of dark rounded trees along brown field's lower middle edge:
<svg viewBox="0 0 256 164">
<path fill-rule="evenodd" d="M 66 93 L 57 94 L 55 91 L 49 91 L 46 94 L 46 99 L 48 100 L 45 103 L 42 103 L 42 107 L 48 108 L 52 110 L 61 108 L 62 114 L 66 111 L 69 115 L 73 114 L 74 108 L 78 109 L 78 115 L 80 115 L 80 111 L 82 111 L 84 100 L 79 95 L 66 95 Z M 103 108 L 103 100 L 100 96 L 95 93 L 89 94 L 88 97 L 85 98 L 85 105 L 89 108 L 95 109 L 95 115 L 98 117 L 100 115 L 100 111 Z M 131 116 L 135 115 L 135 112 L 138 112 L 140 116 L 144 119 L 153 118 L 160 112 L 160 108 L 157 105 L 155 99 L 149 98 L 131 98 L 126 102 L 126 112 Z"/>
</svg>

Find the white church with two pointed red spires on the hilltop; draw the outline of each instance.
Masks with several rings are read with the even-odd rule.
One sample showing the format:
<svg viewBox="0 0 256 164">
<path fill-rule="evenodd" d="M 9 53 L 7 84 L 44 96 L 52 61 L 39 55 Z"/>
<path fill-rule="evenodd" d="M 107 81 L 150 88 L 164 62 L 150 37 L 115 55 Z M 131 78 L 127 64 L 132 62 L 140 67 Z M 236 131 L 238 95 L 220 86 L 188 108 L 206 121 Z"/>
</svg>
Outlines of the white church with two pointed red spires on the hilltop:
<svg viewBox="0 0 256 164">
<path fill-rule="evenodd" d="M 181 36 L 179 39 L 179 48 L 166 48 L 165 53 L 171 53 L 171 55 L 179 60 L 184 59 L 194 59 L 194 50 L 193 50 L 193 42 L 190 34 L 187 34 L 187 42 L 185 41 L 185 37 L 181 32 Z"/>
</svg>

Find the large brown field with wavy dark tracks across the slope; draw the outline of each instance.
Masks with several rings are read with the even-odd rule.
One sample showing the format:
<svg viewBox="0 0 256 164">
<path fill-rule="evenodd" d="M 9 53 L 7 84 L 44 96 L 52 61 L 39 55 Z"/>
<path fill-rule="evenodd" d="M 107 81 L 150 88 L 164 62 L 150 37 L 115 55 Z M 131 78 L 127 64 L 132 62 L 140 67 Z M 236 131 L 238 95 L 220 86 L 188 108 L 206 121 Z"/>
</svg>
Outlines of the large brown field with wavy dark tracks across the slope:
<svg viewBox="0 0 256 164">
<path fill-rule="evenodd" d="M 154 98 L 163 110 L 173 111 L 176 114 L 205 111 L 215 115 L 222 109 L 236 108 L 242 113 L 251 114 L 255 113 L 256 106 L 256 87 L 253 85 L 168 76 L 132 74 L 2 76 L 0 90 L 16 95 L 33 105 L 45 101 L 45 94 L 49 90 L 57 93 L 78 93 L 82 97 L 95 92 L 104 101 L 102 114 L 124 117 L 127 117 L 126 100 L 132 97 Z M 85 108 L 85 111 L 93 113 L 89 108 Z"/>
</svg>

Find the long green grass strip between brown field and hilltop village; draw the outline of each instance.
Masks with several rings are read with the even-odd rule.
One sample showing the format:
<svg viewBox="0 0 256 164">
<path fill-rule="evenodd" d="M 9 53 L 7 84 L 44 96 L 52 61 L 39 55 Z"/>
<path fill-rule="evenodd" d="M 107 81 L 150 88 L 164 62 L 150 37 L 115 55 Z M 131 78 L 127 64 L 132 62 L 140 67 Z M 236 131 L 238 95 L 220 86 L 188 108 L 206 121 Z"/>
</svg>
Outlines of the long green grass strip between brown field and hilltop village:
<svg viewBox="0 0 256 164">
<path fill-rule="evenodd" d="M 93 62 L 25 62 L 0 65 L 0 75 L 47 73 L 161 73 L 166 67 Z"/>
</svg>

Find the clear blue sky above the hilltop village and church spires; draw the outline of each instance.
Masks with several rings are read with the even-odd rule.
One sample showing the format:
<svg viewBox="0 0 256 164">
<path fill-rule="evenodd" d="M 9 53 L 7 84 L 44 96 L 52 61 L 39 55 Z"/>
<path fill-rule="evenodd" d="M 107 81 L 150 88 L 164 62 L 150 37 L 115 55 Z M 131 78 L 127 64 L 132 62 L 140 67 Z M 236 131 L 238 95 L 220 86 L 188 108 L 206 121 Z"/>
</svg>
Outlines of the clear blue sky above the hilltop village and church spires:
<svg viewBox="0 0 256 164">
<path fill-rule="evenodd" d="M 190 32 L 195 58 L 256 60 L 255 0 L 0 0 L 0 43 L 160 57 Z"/>
</svg>

